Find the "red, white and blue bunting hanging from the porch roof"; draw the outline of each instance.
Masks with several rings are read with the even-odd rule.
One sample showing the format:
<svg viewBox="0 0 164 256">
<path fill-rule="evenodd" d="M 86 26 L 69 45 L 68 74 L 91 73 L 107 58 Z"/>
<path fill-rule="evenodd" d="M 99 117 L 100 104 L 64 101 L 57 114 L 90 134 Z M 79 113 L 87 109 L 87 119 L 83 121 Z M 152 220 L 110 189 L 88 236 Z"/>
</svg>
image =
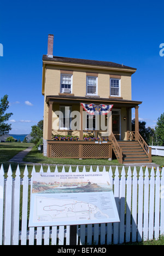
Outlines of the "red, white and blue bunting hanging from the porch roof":
<svg viewBox="0 0 164 256">
<path fill-rule="evenodd" d="M 91 104 L 81 103 L 81 105 L 83 106 L 84 110 L 91 115 L 106 115 L 113 108 L 113 105 L 104 105 L 104 104 L 96 105 L 93 103 Z"/>
</svg>

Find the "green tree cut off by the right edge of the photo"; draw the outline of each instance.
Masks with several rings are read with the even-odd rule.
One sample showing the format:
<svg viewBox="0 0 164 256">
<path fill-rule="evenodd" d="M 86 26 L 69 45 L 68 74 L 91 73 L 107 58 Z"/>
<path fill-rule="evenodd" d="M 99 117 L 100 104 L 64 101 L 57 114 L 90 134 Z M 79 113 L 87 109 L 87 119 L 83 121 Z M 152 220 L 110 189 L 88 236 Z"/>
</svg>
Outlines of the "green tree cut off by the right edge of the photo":
<svg viewBox="0 0 164 256">
<path fill-rule="evenodd" d="M 158 146 L 164 146 L 164 113 L 157 120 L 155 134 Z"/>
</svg>

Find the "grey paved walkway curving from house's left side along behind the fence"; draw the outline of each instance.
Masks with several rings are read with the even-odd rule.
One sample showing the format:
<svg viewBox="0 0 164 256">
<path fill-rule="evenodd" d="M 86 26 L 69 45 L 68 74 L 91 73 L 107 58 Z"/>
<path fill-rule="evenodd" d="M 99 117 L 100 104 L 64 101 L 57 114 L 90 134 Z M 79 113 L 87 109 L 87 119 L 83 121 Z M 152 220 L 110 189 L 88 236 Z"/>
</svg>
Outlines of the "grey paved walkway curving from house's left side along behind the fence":
<svg viewBox="0 0 164 256">
<path fill-rule="evenodd" d="M 40 165 L 40 166 L 63 166 L 62 164 L 43 164 L 43 163 L 33 163 L 33 162 L 25 162 L 23 161 L 24 157 L 32 150 L 32 147 L 26 148 L 24 151 L 19 152 L 17 155 L 14 156 L 14 158 L 10 159 L 9 162 L 16 162 L 17 164 L 25 164 L 25 165 Z M 65 165 L 66 166 L 66 165 Z M 74 165 L 71 165 L 74 166 Z M 75 165 L 77 166 L 77 165 Z M 82 166 L 82 165 L 78 165 Z M 94 166 L 94 165 L 92 165 Z M 124 166 L 148 166 L 148 167 L 159 167 L 160 165 L 156 165 L 155 163 L 150 163 L 150 164 L 143 164 L 143 163 L 134 163 L 134 164 L 124 164 Z M 112 165 L 112 167 L 116 167 L 116 165 Z"/>
</svg>

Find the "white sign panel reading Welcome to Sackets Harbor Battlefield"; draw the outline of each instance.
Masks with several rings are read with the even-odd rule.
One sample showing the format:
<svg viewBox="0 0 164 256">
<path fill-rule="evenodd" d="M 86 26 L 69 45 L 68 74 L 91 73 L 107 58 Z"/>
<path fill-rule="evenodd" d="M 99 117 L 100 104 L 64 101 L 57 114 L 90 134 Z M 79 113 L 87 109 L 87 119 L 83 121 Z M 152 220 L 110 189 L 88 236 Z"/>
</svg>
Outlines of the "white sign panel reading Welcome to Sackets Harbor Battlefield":
<svg viewBox="0 0 164 256">
<path fill-rule="evenodd" d="M 33 174 L 29 226 L 119 221 L 108 172 Z"/>
</svg>

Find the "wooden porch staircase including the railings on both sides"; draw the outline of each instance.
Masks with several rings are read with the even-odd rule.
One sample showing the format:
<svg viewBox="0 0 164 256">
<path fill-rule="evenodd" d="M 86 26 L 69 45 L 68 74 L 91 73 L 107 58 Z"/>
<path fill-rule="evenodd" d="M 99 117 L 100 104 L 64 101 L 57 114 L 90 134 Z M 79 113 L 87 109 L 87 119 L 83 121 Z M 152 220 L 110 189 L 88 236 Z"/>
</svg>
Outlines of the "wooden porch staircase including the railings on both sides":
<svg viewBox="0 0 164 256">
<path fill-rule="evenodd" d="M 127 131 L 127 141 L 116 141 L 111 133 L 112 149 L 120 164 L 148 164 L 151 162 L 151 148 L 144 141 L 139 132 Z"/>
</svg>

